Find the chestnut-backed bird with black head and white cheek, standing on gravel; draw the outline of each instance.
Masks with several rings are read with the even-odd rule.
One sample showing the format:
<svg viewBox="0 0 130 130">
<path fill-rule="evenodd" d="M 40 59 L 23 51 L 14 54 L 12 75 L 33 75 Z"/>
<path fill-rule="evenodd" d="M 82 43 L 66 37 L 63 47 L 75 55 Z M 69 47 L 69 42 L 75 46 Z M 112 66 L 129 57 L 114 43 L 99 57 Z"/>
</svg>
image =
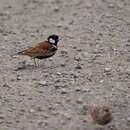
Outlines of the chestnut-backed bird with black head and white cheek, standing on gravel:
<svg viewBox="0 0 130 130">
<path fill-rule="evenodd" d="M 35 59 L 45 59 L 52 57 L 58 50 L 58 42 L 61 40 L 58 35 L 52 34 L 47 40 L 37 43 L 34 47 L 30 47 L 16 53 L 16 55 L 26 55 L 34 59 L 34 64 L 37 66 Z"/>
</svg>

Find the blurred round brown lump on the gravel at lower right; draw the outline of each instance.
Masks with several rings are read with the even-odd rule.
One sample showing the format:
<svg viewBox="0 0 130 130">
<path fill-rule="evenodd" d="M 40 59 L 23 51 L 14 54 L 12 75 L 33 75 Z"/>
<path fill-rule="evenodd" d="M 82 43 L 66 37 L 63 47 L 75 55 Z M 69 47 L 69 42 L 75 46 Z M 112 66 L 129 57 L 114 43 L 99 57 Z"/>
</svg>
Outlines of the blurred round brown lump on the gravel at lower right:
<svg viewBox="0 0 130 130">
<path fill-rule="evenodd" d="M 108 106 L 92 106 L 90 108 L 90 115 L 93 121 L 99 125 L 106 125 L 112 120 L 112 113 Z"/>
</svg>

